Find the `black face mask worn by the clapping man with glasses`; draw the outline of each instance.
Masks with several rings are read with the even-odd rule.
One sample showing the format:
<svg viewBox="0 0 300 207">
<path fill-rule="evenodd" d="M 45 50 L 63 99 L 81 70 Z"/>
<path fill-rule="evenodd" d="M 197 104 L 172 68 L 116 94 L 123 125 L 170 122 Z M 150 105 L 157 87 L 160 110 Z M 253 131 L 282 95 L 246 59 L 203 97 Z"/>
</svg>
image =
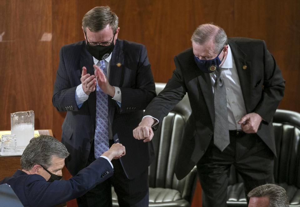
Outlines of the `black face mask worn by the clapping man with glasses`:
<svg viewBox="0 0 300 207">
<path fill-rule="evenodd" d="M 88 52 L 95 57 L 97 60 L 104 60 L 106 59 L 110 53 L 113 52 L 114 44 L 113 42 L 110 43 L 108 46 L 103 46 L 103 45 L 90 45 L 88 43 L 88 38 L 87 34 L 85 34 L 86 40 L 87 40 L 87 50 Z M 113 34 L 113 41 L 115 39 L 115 33 Z"/>
</svg>

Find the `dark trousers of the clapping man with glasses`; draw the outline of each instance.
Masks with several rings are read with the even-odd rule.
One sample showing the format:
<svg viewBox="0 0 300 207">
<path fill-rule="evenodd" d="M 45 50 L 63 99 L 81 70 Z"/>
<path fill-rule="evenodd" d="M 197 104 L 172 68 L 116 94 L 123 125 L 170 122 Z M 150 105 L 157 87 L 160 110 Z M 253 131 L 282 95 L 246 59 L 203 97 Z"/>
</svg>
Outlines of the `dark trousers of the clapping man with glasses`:
<svg viewBox="0 0 300 207">
<path fill-rule="evenodd" d="M 110 141 L 110 145 L 112 144 L 113 143 Z M 91 150 L 88 164 L 93 162 L 93 160 L 95 160 L 94 150 Z M 113 159 L 112 164 L 114 169 L 113 176 L 105 180 L 103 183 L 98 184 L 82 197 L 77 198 L 78 207 L 112 206 L 112 185 L 118 196 L 118 203 L 120 207 L 148 207 L 148 168 L 145 169 L 144 173 L 139 175 L 137 178 L 128 179 L 119 159 Z"/>
</svg>

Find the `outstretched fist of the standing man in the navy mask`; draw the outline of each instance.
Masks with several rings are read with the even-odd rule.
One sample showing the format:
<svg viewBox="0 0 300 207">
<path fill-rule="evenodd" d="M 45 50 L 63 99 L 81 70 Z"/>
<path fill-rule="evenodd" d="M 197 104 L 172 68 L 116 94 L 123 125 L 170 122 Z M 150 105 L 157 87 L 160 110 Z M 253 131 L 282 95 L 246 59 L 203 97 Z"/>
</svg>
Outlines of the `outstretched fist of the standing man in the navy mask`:
<svg viewBox="0 0 300 207">
<path fill-rule="evenodd" d="M 153 130 L 152 125 L 155 119 L 152 117 L 145 117 L 142 119 L 138 127 L 133 129 L 133 137 L 135 139 L 141 140 L 143 139 L 144 142 L 149 142 L 153 138 Z"/>
</svg>

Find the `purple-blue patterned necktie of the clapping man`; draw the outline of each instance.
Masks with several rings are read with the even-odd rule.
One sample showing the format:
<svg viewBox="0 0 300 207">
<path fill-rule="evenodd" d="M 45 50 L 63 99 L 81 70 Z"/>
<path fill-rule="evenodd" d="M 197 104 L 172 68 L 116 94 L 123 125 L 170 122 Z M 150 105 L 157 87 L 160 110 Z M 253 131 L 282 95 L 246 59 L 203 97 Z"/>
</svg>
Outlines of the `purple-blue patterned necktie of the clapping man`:
<svg viewBox="0 0 300 207">
<path fill-rule="evenodd" d="M 100 69 L 105 76 L 107 71 L 104 60 L 99 61 Z M 98 86 L 96 89 L 96 130 L 95 130 L 95 158 L 100 157 L 109 149 L 108 144 L 108 95 Z"/>
</svg>

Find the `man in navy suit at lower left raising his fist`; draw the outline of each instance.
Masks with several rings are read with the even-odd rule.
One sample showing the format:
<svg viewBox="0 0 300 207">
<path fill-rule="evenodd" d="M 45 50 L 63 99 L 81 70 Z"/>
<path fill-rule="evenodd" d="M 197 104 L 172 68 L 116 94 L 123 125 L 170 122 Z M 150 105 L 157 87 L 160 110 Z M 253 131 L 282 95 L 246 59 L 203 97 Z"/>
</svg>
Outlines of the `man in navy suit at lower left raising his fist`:
<svg viewBox="0 0 300 207">
<path fill-rule="evenodd" d="M 62 178 L 65 145 L 49 135 L 32 138 L 21 157 L 21 168 L 0 184 L 9 184 L 24 206 L 53 206 L 82 196 L 113 175 L 112 159 L 125 155 L 122 144 L 113 144 L 88 167 L 68 180 Z M 70 155 L 72 156 L 72 155 Z"/>
</svg>

